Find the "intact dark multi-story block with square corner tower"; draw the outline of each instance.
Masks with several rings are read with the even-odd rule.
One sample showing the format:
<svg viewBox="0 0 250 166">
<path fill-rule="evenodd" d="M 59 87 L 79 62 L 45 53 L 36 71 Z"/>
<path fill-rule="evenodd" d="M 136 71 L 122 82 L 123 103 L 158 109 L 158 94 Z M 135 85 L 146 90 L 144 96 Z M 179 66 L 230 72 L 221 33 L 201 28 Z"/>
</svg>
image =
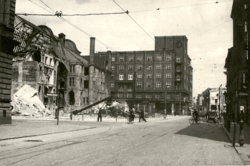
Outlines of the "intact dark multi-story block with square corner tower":
<svg viewBox="0 0 250 166">
<path fill-rule="evenodd" d="M 153 51 L 98 52 L 100 65 L 111 61 L 113 100 L 147 112 L 182 113 L 192 103 L 193 68 L 186 36 L 155 37 Z"/>
</svg>

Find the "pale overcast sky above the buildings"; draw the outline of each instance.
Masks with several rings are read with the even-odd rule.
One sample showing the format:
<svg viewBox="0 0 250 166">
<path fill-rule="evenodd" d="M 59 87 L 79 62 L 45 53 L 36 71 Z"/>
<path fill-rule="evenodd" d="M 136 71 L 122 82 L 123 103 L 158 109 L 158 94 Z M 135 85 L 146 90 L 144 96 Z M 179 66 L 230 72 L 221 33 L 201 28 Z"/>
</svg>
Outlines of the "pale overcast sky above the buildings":
<svg viewBox="0 0 250 166">
<path fill-rule="evenodd" d="M 89 55 L 90 36 L 98 40 L 95 49 L 98 52 L 108 49 L 154 50 L 154 36 L 186 35 L 188 55 L 192 59 L 191 64 L 194 69 L 193 97 L 208 87 L 216 88 L 220 84 L 226 86 L 226 75 L 223 71 L 225 71 L 228 48 L 233 46 L 230 18 L 233 0 L 115 0 L 115 2 L 124 10 L 128 10 L 129 15 L 146 32 L 127 14 L 63 17 L 82 31 L 55 16 L 22 17 L 35 25 L 47 25 L 55 35 L 64 33 L 66 38 L 76 43 L 82 55 Z M 115 2 L 113 0 L 17 0 L 16 13 L 49 14 L 49 11 L 52 13 L 62 11 L 66 15 L 123 12 Z"/>
</svg>

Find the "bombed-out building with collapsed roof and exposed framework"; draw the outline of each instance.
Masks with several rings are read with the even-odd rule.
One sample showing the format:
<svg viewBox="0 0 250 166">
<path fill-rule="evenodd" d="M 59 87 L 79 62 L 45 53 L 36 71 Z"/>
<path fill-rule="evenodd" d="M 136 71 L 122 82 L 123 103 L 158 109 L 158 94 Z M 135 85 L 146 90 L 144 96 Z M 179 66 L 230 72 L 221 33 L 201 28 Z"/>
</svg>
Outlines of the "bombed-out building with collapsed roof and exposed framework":
<svg viewBox="0 0 250 166">
<path fill-rule="evenodd" d="M 51 114 L 57 107 L 69 113 L 110 96 L 110 72 L 93 60 L 95 38 L 88 61 L 65 34 L 55 36 L 49 27 L 19 16 L 15 23 L 14 40 L 20 44 L 14 48 L 12 95 L 29 85 Z"/>
</svg>

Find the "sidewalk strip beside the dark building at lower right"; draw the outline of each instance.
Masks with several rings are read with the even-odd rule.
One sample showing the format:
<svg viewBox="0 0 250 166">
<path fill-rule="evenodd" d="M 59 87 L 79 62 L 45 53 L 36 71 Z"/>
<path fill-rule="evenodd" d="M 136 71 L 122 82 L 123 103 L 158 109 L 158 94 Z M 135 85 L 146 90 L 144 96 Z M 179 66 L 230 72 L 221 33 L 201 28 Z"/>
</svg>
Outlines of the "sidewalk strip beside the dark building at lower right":
<svg viewBox="0 0 250 166">
<path fill-rule="evenodd" d="M 233 132 L 234 132 L 234 125 L 231 124 L 230 132 L 226 130 L 223 125 L 225 132 L 227 133 L 231 142 L 233 142 Z M 244 133 L 244 145 L 239 145 L 239 132 L 240 126 L 239 124 L 236 125 L 236 137 L 235 137 L 235 150 L 241 156 L 242 160 L 245 164 L 250 164 L 250 126 L 244 125 L 243 133 Z"/>
</svg>

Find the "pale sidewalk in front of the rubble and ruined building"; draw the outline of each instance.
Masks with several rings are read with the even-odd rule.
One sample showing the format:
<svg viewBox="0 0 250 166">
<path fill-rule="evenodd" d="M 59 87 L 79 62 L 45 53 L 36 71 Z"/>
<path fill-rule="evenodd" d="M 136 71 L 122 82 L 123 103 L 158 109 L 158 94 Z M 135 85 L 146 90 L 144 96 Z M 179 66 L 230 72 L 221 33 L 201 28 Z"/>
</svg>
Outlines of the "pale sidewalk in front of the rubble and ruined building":
<svg viewBox="0 0 250 166">
<path fill-rule="evenodd" d="M 82 116 L 81 116 L 82 117 Z M 146 118 L 147 122 L 164 122 L 170 119 L 180 119 L 185 116 L 167 116 L 166 119 L 163 117 L 156 118 Z M 78 118 L 72 121 L 64 117 L 60 117 L 59 125 L 57 125 L 57 120 L 52 117 L 24 117 L 24 116 L 13 116 L 12 124 L 0 125 L 0 141 L 9 139 L 18 139 L 24 137 L 32 137 L 39 135 L 49 135 L 55 133 L 65 133 L 79 130 L 94 129 L 96 127 L 97 116 L 85 116 L 84 119 Z M 119 124 L 127 123 L 127 119 L 123 117 L 115 118 L 103 117 L 103 122 L 110 122 Z M 139 123 L 139 119 L 135 118 L 135 124 Z M 90 122 L 90 123 L 84 123 Z M 96 122 L 96 123 L 92 123 Z M 111 124 L 112 125 L 112 124 Z M 101 125 L 98 123 L 98 127 L 106 125 Z"/>
</svg>

